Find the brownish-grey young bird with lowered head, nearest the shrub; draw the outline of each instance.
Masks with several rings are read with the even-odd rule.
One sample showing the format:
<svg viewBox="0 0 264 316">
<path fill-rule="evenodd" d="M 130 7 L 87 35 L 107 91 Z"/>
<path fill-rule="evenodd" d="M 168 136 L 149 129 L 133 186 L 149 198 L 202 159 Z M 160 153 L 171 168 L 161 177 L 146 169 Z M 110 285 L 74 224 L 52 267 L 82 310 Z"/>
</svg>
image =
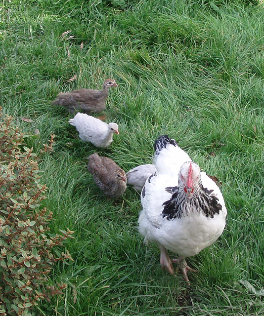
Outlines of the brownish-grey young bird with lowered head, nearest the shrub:
<svg viewBox="0 0 264 316">
<path fill-rule="evenodd" d="M 127 188 L 127 177 L 115 161 L 94 153 L 88 157 L 88 171 L 95 184 L 108 197 L 120 197 Z"/>
</svg>

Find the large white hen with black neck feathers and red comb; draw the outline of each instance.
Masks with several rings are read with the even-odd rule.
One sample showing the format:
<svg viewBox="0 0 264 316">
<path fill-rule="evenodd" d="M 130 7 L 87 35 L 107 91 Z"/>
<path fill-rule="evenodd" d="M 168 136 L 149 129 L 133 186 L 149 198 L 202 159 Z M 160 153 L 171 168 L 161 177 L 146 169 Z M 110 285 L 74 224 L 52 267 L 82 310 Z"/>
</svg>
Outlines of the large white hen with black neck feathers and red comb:
<svg viewBox="0 0 264 316">
<path fill-rule="evenodd" d="M 167 250 L 179 255 L 174 259 L 189 283 L 185 258 L 198 254 L 222 234 L 226 207 L 216 183 L 186 152 L 167 135 L 155 142 L 157 171 L 141 192 L 143 210 L 139 232 L 145 241 L 155 241 L 161 251 L 160 263 L 171 274 L 173 265 Z"/>
</svg>

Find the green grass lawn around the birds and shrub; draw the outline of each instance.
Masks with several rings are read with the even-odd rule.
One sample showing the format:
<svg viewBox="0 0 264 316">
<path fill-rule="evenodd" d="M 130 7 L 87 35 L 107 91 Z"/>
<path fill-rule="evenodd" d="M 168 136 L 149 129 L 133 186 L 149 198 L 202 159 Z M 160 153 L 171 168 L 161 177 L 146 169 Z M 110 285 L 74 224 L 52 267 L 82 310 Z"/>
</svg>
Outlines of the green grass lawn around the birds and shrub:
<svg viewBox="0 0 264 316">
<path fill-rule="evenodd" d="M 2 1 L 1 106 L 26 134 L 39 129 L 27 138 L 36 152 L 56 135 L 40 163 L 44 206 L 51 232 L 75 231 L 66 244 L 74 261 L 50 276 L 67 283 L 65 295 L 42 302 L 44 315 L 264 315 L 262 297 L 240 282 L 264 286 L 263 21 L 262 1 Z M 98 150 L 51 101 L 111 77 L 119 88 L 107 121 L 118 122 L 120 135 Z M 189 288 L 160 269 L 155 245 L 143 244 L 138 194 L 128 188 L 109 199 L 86 168 L 95 151 L 127 171 L 151 163 L 164 133 L 222 181 L 228 209 L 219 240 L 188 259 L 199 270 Z"/>
</svg>

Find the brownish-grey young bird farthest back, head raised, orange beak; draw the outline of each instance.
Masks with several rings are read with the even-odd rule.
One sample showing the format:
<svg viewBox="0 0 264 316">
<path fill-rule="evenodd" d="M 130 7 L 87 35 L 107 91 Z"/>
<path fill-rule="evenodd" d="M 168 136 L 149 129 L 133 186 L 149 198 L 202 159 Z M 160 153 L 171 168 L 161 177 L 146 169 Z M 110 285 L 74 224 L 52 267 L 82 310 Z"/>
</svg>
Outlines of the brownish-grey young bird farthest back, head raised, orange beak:
<svg viewBox="0 0 264 316">
<path fill-rule="evenodd" d="M 60 93 L 52 104 L 62 105 L 70 113 L 98 113 L 106 108 L 106 99 L 109 88 L 117 86 L 118 85 L 114 79 L 106 79 L 102 90 L 79 89 Z"/>
</svg>

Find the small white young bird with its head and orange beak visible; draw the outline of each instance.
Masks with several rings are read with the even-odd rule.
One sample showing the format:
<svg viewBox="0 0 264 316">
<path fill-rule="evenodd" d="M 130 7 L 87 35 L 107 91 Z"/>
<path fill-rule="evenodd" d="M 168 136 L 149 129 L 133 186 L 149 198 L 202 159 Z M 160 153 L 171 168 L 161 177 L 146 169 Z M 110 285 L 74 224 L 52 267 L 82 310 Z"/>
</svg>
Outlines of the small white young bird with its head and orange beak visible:
<svg viewBox="0 0 264 316">
<path fill-rule="evenodd" d="M 112 143 L 113 133 L 119 134 L 116 123 L 107 124 L 84 113 L 77 113 L 69 123 L 76 127 L 81 140 L 100 148 L 106 148 Z"/>
</svg>

